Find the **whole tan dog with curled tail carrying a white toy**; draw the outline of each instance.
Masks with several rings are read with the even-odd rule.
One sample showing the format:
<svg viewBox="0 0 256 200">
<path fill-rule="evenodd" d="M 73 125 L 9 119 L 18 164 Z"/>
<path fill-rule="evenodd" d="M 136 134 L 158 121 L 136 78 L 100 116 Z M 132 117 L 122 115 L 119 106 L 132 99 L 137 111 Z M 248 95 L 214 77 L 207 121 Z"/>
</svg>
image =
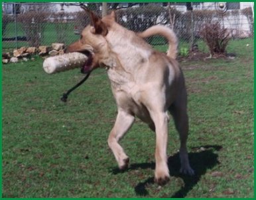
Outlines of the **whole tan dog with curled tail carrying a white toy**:
<svg viewBox="0 0 256 200">
<path fill-rule="evenodd" d="M 91 11 L 87 12 L 91 24 L 84 28 L 80 40 L 71 44 L 67 51 L 80 51 L 90 55 L 88 63 L 82 69 L 84 73 L 96 67 L 107 67 L 118 110 L 115 125 L 107 142 L 119 168 L 127 168 L 129 157 L 118 141 L 137 116 L 145 121 L 157 136 L 155 182 L 162 185 L 169 180 L 166 154 L 169 111 L 180 134 L 180 172 L 194 174 L 186 149 L 187 97 L 184 77 L 175 60 L 177 42 L 174 32 L 164 26 L 153 26 L 145 32 L 136 34 L 117 24 L 113 12 L 102 19 Z M 155 34 L 168 39 L 167 54 L 153 50 L 143 40 Z"/>
</svg>

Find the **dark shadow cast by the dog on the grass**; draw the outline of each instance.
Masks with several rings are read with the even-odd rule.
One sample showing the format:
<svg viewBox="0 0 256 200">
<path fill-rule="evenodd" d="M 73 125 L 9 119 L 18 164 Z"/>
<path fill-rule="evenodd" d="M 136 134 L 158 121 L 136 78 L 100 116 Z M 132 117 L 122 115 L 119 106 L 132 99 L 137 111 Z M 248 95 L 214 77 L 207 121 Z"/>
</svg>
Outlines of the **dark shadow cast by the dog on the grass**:
<svg viewBox="0 0 256 200">
<path fill-rule="evenodd" d="M 196 185 L 202 175 L 206 174 L 206 170 L 213 168 L 218 162 L 218 154 L 214 151 L 222 149 L 219 145 L 206 145 L 203 147 L 193 147 L 192 150 L 196 152 L 190 152 L 188 154 L 190 158 L 190 165 L 195 171 L 194 176 L 186 176 L 182 175 L 179 172 L 180 169 L 180 157 L 179 154 L 176 153 L 173 156 L 168 158 L 168 168 L 170 171 L 170 176 L 181 178 L 184 182 L 184 186 L 182 186 L 178 191 L 173 193 L 170 197 L 172 198 L 180 198 L 186 197 L 186 194 Z M 155 162 L 151 163 L 141 163 L 141 164 L 131 164 L 131 166 L 127 170 L 136 170 L 138 168 L 145 169 L 151 168 L 155 169 Z M 120 171 L 115 169 L 113 170 L 113 174 L 117 174 Z M 148 178 L 144 182 L 138 183 L 135 186 L 135 193 L 140 196 L 146 196 L 149 194 L 146 187 L 150 184 L 154 184 L 154 178 Z"/>
</svg>

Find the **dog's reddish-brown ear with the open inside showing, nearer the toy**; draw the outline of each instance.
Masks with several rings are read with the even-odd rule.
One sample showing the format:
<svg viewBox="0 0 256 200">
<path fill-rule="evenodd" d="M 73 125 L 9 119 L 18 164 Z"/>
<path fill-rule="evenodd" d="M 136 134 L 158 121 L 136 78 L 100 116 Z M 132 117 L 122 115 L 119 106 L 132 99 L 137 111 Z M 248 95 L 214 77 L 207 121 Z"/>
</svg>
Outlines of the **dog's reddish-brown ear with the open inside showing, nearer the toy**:
<svg viewBox="0 0 256 200">
<path fill-rule="evenodd" d="M 97 17 L 96 14 L 94 14 L 93 11 L 90 11 L 86 7 L 82 7 L 88 13 L 90 17 L 90 24 L 92 26 L 91 32 L 93 34 L 101 34 L 103 36 L 107 35 L 107 26 L 101 21 L 101 18 Z"/>
</svg>

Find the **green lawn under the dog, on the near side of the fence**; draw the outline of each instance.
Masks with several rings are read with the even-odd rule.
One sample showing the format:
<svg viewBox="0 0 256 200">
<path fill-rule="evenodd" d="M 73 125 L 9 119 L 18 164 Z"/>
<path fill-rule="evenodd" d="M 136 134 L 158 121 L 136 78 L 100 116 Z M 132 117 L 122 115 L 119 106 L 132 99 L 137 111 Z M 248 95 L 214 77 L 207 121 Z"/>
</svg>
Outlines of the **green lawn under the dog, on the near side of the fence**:
<svg viewBox="0 0 256 200">
<path fill-rule="evenodd" d="M 163 187 L 153 183 L 155 134 L 139 120 L 121 141 L 131 166 L 117 170 L 107 147 L 117 112 L 103 69 L 64 104 L 79 70 L 47 75 L 40 58 L 3 65 L 3 197 L 254 197 L 252 42 L 232 41 L 235 59 L 180 63 L 196 176 L 178 173 L 170 121 L 171 178 Z"/>
</svg>

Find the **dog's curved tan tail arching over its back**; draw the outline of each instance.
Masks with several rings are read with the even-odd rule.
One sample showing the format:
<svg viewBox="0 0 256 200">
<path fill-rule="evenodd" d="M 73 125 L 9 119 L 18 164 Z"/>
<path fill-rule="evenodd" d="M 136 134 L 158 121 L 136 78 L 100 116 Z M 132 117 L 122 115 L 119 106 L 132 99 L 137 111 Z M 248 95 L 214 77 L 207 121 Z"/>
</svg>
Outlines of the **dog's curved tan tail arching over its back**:
<svg viewBox="0 0 256 200">
<path fill-rule="evenodd" d="M 166 26 L 156 25 L 156 26 L 151 26 L 147 30 L 143 32 L 139 32 L 137 34 L 141 38 L 147 38 L 149 36 L 154 36 L 154 35 L 163 36 L 168 40 L 168 43 L 169 43 L 167 56 L 173 59 L 176 59 L 176 54 L 178 49 L 178 39 L 172 29 Z"/>
</svg>

